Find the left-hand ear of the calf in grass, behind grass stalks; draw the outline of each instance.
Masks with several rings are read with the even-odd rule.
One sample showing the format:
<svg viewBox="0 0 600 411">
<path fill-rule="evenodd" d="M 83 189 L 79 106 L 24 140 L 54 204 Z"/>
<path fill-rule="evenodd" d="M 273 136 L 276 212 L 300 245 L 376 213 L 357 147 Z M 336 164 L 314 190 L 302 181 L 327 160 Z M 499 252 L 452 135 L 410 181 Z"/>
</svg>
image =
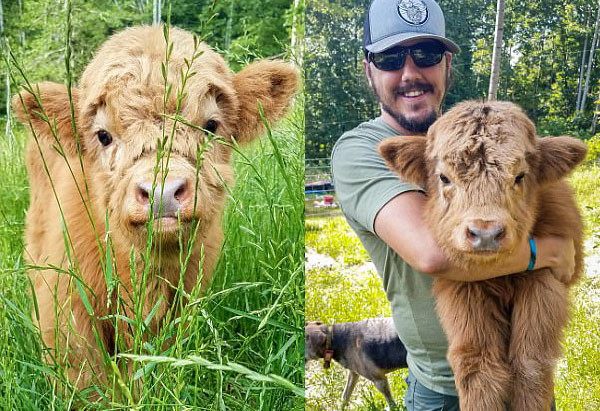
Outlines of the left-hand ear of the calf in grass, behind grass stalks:
<svg viewBox="0 0 600 411">
<path fill-rule="evenodd" d="M 77 113 L 79 92 L 76 88 L 71 88 L 71 97 L 74 111 Z M 23 90 L 15 94 L 11 105 L 19 122 L 28 128 L 31 127 L 39 139 L 52 144 L 57 144 L 58 139 L 66 154 L 77 155 L 66 86 L 50 82 L 34 84 L 32 90 Z"/>
</svg>

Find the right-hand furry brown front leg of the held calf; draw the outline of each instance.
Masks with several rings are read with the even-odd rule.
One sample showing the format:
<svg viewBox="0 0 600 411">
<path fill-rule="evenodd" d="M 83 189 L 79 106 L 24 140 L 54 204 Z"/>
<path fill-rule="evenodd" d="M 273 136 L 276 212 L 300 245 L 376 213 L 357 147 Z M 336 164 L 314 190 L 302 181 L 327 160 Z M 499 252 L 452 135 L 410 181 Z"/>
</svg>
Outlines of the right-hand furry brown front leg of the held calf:
<svg viewBox="0 0 600 411">
<path fill-rule="evenodd" d="M 568 321 L 568 291 L 549 270 L 528 273 L 516 281 L 509 348 L 511 411 L 548 411 L 554 365 Z"/>
</svg>

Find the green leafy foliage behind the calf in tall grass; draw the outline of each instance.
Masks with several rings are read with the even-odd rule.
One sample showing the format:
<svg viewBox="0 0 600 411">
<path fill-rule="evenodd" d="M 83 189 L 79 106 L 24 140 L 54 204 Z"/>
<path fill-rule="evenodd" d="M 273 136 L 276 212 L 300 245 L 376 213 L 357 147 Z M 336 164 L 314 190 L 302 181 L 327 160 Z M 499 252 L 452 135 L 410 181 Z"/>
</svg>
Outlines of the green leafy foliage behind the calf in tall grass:
<svg viewBox="0 0 600 411">
<path fill-rule="evenodd" d="M 125 27 L 152 22 L 152 2 L 147 0 L 72 0 L 71 3 L 71 71 L 75 80 L 108 36 Z M 289 0 L 164 3 L 163 22 L 170 19 L 171 24 L 195 32 L 223 52 L 235 70 L 259 57 L 286 54 L 293 13 L 298 13 Z M 5 16 L 2 35 L 26 68 L 29 80 L 64 82 L 65 2 L 21 0 L 0 4 Z M 4 82 L 0 82 L 0 95 L 6 95 Z M 5 112 L 6 98 L 3 98 L 0 113 Z"/>
</svg>

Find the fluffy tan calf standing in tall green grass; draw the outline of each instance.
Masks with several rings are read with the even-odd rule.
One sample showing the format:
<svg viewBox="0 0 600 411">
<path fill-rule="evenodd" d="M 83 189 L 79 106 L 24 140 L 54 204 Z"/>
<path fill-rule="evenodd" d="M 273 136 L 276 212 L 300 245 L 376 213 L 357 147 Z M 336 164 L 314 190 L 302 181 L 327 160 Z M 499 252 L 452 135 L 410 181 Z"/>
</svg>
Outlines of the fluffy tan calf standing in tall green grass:
<svg viewBox="0 0 600 411">
<path fill-rule="evenodd" d="M 223 181 L 233 183 L 232 149 L 224 143 L 231 136 L 240 143 L 251 141 L 264 131 L 258 102 L 267 120 L 275 121 L 296 89 L 297 71 L 287 63 L 261 61 L 234 74 L 220 55 L 195 42 L 190 33 L 172 28 L 169 41 L 173 48 L 165 73 L 172 87 L 165 93 L 162 28 L 137 27 L 110 38 L 71 90 L 76 134 L 65 86 L 42 83 L 33 87 L 35 96 L 29 90 L 13 99 L 18 119 L 33 131 L 27 149 L 31 201 L 25 255 L 30 264 L 46 267 L 30 270 L 39 325 L 50 356 L 68 364 L 69 379 L 80 386 L 92 376 L 102 379 L 102 350 L 115 350 L 115 322 L 100 319 L 116 309 L 115 290 L 106 280 L 110 269 L 102 269 L 107 264 L 106 238 L 114 245 L 112 275 L 118 273 L 122 283 L 121 314 L 136 316 L 134 291 L 144 294 L 144 319 L 162 298 L 150 323 L 155 331 L 180 277 L 190 292 L 203 260 L 202 283 L 211 278 L 223 239 Z M 195 74 L 188 76 L 178 102 L 186 72 Z M 208 144 L 210 133 L 181 122 L 175 125 L 176 112 L 224 143 Z M 55 133 L 50 127 L 54 124 Z M 161 151 L 165 154 L 157 160 Z M 147 248 L 149 230 L 154 233 L 152 248 Z M 187 270 L 181 273 L 180 255 L 185 258 L 194 235 Z M 142 288 L 143 270 L 149 274 Z M 70 274 L 84 285 L 77 287 Z M 87 290 L 93 315 L 82 290 Z M 123 322 L 119 327 L 131 348 L 131 326 Z"/>
</svg>

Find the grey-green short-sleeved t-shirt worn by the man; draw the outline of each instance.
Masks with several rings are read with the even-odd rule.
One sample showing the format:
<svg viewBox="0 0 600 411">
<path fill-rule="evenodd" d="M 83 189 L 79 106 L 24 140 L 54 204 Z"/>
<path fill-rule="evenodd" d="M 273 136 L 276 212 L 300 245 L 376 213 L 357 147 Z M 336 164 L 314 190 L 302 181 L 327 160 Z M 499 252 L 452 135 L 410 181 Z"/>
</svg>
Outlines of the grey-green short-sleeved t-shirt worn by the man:
<svg viewBox="0 0 600 411">
<path fill-rule="evenodd" d="M 377 153 L 377 144 L 399 132 L 381 117 L 360 124 L 336 142 L 331 155 L 338 202 L 383 281 L 392 317 L 408 352 L 408 365 L 417 380 L 435 392 L 457 395 L 446 360 L 448 340 L 431 295 L 433 277 L 414 270 L 374 229 L 377 213 L 397 195 L 420 190 L 400 181 Z M 401 229 L 401 227 L 398 227 Z"/>
</svg>

